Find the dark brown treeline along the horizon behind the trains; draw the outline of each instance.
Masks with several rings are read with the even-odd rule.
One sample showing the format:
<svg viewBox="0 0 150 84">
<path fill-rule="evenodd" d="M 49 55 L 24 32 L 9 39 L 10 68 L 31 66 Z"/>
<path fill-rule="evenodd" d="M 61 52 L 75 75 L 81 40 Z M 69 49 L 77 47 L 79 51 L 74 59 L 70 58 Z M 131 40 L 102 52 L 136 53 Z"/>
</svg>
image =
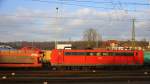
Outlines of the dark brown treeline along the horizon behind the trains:
<svg viewBox="0 0 150 84">
<path fill-rule="evenodd" d="M 109 41 L 98 41 L 89 44 L 87 41 L 61 41 L 58 44 L 72 44 L 73 49 L 87 49 L 87 48 L 107 48 L 110 46 Z M 136 41 L 137 47 L 147 49 L 147 41 Z M 0 45 L 9 45 L 13 48 L 20 49 L 22 47 L 35 47 L 43 50 L 52 50 L 55 48 L 55 42 L 28 42 L 28 41 L 16 41 L 16 42 L 0 42 Z M 117 41 L 118 46 L 131 46 L 131 41 Z"/>
</svg>

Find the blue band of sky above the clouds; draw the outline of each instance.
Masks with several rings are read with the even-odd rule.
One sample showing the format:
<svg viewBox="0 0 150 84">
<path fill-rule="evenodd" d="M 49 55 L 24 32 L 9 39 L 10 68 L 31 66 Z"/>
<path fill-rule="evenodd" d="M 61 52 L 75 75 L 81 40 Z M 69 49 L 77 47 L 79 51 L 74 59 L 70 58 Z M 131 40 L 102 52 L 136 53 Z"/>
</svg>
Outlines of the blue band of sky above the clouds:
<svg viewBox="0 0 150 84">
<path fill-rule="evenodd" d="M 42 1 L 48 1 L 48 2 L 42 2 Z M 116 9 L 123 8 L 123 9 L 134 10 L 137 8 L 142 9 L 142 8 L 150 7 L 150 5 L 138 5 L 134 3 L 149 4 L 150 1 L 149 0 L 39 0 L 39 1 L 38 0 L 1 0 L 1 11 L 9 13 L 15 11 L 18 8 L 51 10 L 55 7 L 62 7 L 67 10 L 72 10 L 72 9 L 85 8 L 88 6 L 91 6 L 90 8 L 95 8 L 97 10 L 102 10 L 103 8 L 106 8 L 105 10 L 110 10 L 109 8 L 116 8 Z M 75 5 L 69 5 L 69 4 L 75 4 Z M 77 5 L 81 5 L 81 6 L 77 6 Z"/>
</svg>

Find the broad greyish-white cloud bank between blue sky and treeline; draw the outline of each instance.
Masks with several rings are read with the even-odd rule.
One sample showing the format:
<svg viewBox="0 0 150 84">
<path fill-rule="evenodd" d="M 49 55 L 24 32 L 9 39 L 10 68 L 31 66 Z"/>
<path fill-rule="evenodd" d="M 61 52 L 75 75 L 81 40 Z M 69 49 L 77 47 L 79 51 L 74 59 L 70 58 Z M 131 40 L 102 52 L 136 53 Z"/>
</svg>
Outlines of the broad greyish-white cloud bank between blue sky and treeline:
<svg viewBox="0 0 150 84">
<path fill-rule="evenodd" d="M 54 12 L 20 8 L 12 13 L 13 16 L 0 15 L 0 38 L 1 41 L 81 40 L 84 30 L 95 28 L 103 39 L 127 40 L 131 38 L 131 17 L 149 17 L 149 11 L 146 12 L 106 12 L 83 8 L 56 18 Z M 150 27 L 149 21 L 135 24 L 137 39 L 149 39 L 150 34 L 145 31 Z"/>
</svg>

